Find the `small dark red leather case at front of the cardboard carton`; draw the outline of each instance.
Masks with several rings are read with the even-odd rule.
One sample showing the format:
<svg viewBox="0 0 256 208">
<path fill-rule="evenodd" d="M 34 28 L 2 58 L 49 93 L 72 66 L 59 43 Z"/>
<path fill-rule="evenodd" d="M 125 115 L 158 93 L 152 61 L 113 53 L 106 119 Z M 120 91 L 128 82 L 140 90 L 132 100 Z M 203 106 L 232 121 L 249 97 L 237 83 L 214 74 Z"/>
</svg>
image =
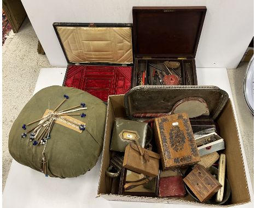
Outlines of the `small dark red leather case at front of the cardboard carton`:
<svg viewBox="0 0 256 208">
<path fill-rule="evenodd" d="M 181 175 L 159 179 L 159 197 L 185 197 L 185 194 Z"/>
</svg>

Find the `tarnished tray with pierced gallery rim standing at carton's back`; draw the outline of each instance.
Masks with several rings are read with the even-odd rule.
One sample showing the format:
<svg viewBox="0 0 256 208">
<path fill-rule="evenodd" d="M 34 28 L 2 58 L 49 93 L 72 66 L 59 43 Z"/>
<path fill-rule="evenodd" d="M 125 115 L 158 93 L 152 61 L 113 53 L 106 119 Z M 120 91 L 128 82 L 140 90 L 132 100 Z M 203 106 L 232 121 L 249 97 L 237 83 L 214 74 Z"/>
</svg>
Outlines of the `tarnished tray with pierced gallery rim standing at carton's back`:
<svg viewBox="0 0 256 208">
<path fill-rule="evenodd" d="M 226 91 L 215 86 L 187 85 L 141 85 L 125 94 L 127 117 L 131 120 L 137 113 L 169 113 L 173 106 L 186 97 L 200 97 L 207 103 L 210 117 L 216 119 L 229 99 Z"/>
</svg>

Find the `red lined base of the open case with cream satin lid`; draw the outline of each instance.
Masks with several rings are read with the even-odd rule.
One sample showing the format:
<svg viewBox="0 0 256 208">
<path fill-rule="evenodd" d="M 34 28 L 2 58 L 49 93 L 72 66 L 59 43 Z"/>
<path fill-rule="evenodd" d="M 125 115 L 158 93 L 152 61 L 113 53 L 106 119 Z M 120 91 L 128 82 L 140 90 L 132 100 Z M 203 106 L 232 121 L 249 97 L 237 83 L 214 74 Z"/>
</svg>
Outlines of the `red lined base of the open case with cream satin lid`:
<svg viewBox="0 0 256 208">
<path fill-rule="evenodd" d="M 66 87 L 87 91 L 108 101 L 108 95 L 125 94 L 131 89 L 131 66 L 68 65 Z"/>
</svg>

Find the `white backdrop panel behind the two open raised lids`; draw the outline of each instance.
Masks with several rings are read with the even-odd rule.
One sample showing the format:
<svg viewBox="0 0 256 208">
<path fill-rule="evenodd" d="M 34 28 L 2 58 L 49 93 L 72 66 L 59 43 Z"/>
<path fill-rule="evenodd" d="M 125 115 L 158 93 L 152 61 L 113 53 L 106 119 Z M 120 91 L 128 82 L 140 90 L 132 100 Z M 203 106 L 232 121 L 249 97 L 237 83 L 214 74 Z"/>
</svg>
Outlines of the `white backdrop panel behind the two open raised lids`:
<svg viewBox="0 0 256 208">
<path fill-rule="evenodd" d="M 132 23 L 133 6 L 205 5 L 197 68 L 236 68 L 253 37 L 253 0 L 21 1 L 53 66 L 67 64 L 53 22 Z"/>
</svg>

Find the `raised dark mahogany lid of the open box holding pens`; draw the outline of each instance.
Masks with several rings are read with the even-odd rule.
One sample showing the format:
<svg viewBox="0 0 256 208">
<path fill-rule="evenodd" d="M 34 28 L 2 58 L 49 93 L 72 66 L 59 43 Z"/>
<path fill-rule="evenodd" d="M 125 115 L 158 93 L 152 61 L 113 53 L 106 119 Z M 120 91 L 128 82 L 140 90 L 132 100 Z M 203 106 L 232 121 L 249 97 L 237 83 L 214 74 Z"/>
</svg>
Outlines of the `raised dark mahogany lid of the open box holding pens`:
<svg viewBox="0 0 256 208">
<path fill-rule="evenodd" d="M 195 58 L 206 7 L 133 7 L 136 58 Z"/>
</svg>

